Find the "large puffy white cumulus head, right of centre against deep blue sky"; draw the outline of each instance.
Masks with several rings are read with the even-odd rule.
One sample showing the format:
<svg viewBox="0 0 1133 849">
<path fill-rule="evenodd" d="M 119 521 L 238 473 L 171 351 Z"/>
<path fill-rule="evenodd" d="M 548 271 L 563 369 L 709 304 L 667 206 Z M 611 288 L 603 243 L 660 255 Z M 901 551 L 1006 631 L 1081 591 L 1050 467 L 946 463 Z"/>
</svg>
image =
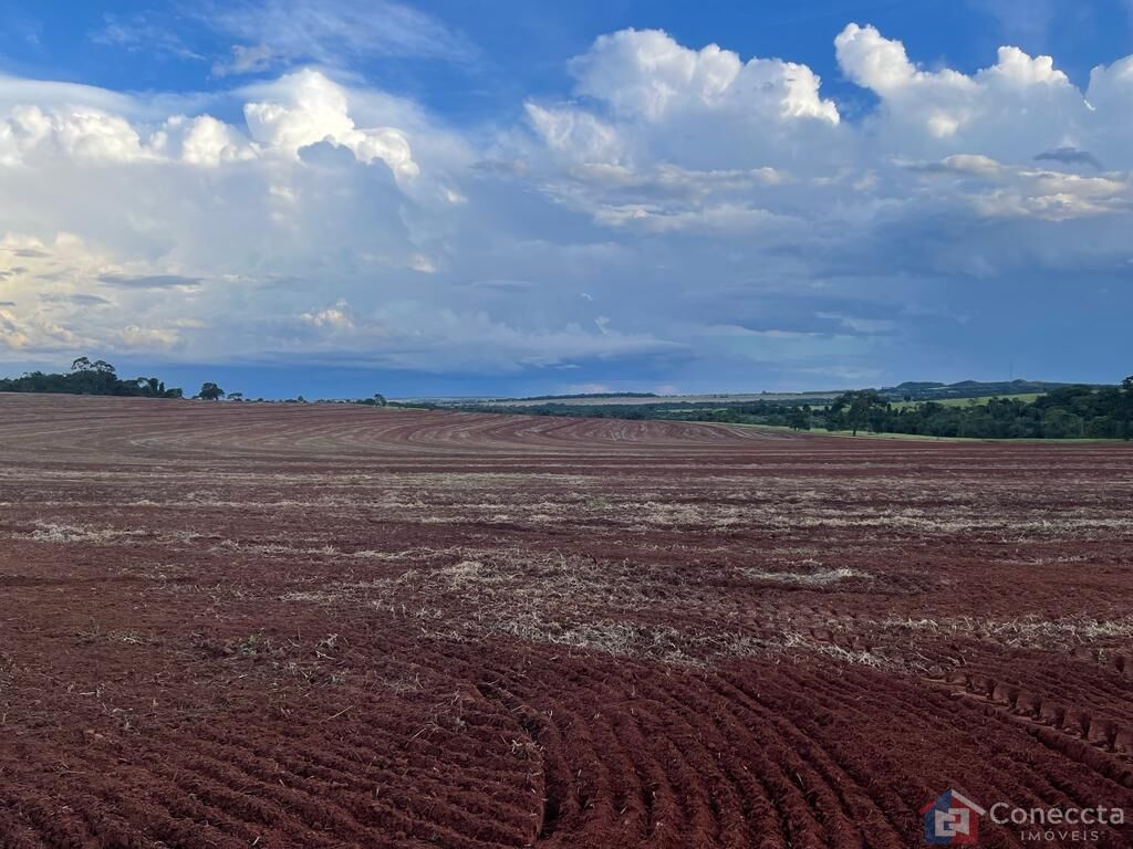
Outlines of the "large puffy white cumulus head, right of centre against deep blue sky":
<svg viewBox="0 0 1133 849">
<path fill-rule="evenodd" d="M 804 65 L 623 29 L 569 67 L 574 100 L 527 104 L 540 153 L 560 162 L 790 171 L 846 155 L 837 108 Z"/>
</svg>

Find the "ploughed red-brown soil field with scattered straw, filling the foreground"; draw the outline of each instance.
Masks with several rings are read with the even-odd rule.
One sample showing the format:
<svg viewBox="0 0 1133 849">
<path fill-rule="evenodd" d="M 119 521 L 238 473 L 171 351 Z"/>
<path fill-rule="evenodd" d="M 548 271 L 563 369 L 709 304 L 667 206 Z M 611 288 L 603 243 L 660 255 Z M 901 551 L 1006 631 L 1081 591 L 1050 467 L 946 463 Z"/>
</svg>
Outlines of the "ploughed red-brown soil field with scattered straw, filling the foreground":
<svg viewBox="0 0 1133 849">
<path fill-rule="evenodd" d="M 0 847 L 1133 818 L 1131 496 L 1125 445 L 0 396 Z"/>
</svg>

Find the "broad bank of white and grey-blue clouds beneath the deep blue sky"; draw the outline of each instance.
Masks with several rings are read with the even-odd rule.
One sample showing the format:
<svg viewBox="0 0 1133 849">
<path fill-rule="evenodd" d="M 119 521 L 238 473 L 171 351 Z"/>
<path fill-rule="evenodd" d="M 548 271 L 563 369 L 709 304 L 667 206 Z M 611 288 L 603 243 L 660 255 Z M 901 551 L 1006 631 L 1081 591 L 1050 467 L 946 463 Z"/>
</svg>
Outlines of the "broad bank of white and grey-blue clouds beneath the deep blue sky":
<svg viewBox="0 0 1133 849">
<path fill-rule="evenodd" d="M 317 53 L 237 45 L 199 95 L 0 77 L 0 360 L 868 383 L 1012 355 L 1013 321 L 1073 311 L 1071 283 L 1113 298 L 1133 261 L 1133 55 L 1081 89 L 1050 57 L 927 69 L 849 24 L 874 102 L 849 114 L 806 65 L 623 29 L 469 127 L 343 72 L 350 31 L 304 8 Z M 475 52 L 403 23 L 384 50 Z"/>
</svg>

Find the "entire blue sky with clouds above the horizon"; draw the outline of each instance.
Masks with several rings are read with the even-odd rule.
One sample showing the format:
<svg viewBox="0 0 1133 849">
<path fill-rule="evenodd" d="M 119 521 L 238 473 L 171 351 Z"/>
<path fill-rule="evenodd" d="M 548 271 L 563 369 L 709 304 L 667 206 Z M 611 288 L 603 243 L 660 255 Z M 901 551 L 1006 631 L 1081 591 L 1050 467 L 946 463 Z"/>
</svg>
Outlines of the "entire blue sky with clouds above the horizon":
<svg viewBox="0 0 1133 849">
<path fill-rule="evenodd" d="M 0 0 L 0 374 L 1133 371 L 1133 0 Z"/>
</svg>

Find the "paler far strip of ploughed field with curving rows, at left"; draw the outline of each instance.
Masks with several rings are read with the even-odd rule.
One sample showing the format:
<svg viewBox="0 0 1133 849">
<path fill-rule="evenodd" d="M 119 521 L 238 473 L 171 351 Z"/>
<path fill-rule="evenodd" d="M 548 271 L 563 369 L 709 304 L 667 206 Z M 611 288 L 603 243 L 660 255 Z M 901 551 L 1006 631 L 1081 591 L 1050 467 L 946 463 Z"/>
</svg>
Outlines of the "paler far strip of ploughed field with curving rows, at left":
<svg viewBox="0 0 1133 849">
<path fill-rule="evenodd" d="M 531 451 L 617 453 L 676 446 L 689 451 L 735 447 L 750 440 L 791 439 L 790 434 L 738 427 L 615 419 L 531 419 L 520 415 L 389 411 L 325 405 L 228 404 L 129 401 L 123 421 L 96 408 L 99 398 L 0 397 L 6 427 L 25 451 L 37 446 L 107 456 L 135 452 L 206 453 L 218 456 L 280 452 L 350 456 L 390 453 Z M 17 408 L 14 410 L 14 408 Z M 69 420 L 50 421 L 57 410 Z M 330 421 L 327 413 L 333 410 Z M 87 412 L 88 414 L 76 414 Z M 62 417 L 60 417 L 62 418 Z M 50 423 L 45 426 L 45 420 Z M 109 426 L 109 427 L 108 427 Z"/>
</svg>

